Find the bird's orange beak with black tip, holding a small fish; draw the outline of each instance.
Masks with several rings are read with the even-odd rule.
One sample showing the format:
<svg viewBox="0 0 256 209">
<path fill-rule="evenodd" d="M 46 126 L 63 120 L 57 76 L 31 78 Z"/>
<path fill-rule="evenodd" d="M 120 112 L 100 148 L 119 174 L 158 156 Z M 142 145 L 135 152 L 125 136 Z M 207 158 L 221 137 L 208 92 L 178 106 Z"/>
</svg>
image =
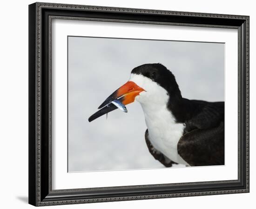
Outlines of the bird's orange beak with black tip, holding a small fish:
<svg viewBox="0 0 256 209">
<path fill-rule="evenodd" d="M 133 81 L 128 81 L 126 84 L 122 85 L 114 93 L 112 93 L 100 106 L 101 109 L 95 112 L 88 120 L 93 121 L 102 115 L 117 109 L 117 107 L 111 102 L 114 100 L 119 100 L 122 104 L 130 104 L 134 102 L 135 97 L 140 94 L 141 91 L 145 91 L 140 86 L 136 85 Z"/>
</svg>

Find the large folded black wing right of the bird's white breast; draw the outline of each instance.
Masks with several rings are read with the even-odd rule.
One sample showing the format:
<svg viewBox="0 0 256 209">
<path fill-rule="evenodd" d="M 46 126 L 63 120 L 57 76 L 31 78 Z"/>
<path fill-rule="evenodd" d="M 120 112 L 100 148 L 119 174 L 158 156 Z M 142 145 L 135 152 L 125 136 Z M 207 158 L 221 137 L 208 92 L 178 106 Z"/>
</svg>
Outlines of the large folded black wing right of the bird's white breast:
<svg viewBox="0 0 256 209">
<path fill-rule="evenodd" d="M 223 165 L 224 102 L 198 106 L 202 109 L 185 122 L 178 153 L 191 166 Z"/>
</svg>

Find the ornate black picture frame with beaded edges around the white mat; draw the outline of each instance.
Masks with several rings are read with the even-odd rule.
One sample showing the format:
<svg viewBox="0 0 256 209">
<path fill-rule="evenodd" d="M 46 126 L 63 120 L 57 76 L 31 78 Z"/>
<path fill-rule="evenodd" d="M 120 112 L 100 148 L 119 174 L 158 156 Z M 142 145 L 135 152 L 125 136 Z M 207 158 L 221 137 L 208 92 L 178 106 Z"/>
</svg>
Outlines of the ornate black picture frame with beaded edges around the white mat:
<svg viewBox="0 0 256 209">
<path fill-rule="evenodd" d="M 51 22 L 113 21 L 238 29 L 238 179 L 83 189 L 52 189 Z M 249 16 L 95 7 L 29 5 L 29 203 L 34 206 L 249 192 Z"/>
</svg>

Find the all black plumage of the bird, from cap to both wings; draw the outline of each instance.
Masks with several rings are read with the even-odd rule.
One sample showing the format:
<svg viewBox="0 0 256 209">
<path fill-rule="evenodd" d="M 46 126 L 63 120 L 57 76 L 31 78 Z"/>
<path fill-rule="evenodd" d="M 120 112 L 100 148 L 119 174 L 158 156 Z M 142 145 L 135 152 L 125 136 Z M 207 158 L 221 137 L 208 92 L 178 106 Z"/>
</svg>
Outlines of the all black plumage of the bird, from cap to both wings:
<svg viewBox="0 0 256 209">
<path fill-rule="evenodd" d="M 161 85 L 169 96 L 168 110 L 177 123 L 185 124 L 180 138 L 178 154 L 191 166 L 224 164 L 224 102 L 207 102 L 182 98 L 175 77 L 161 64 L 145 64 L 132 70 Z M 161 98 L 159 98 L 161 99 Z M 166 157 L 154 150 L 145 133 L 150 153 L 166 167 L 172 165 Z"/>
</svg>

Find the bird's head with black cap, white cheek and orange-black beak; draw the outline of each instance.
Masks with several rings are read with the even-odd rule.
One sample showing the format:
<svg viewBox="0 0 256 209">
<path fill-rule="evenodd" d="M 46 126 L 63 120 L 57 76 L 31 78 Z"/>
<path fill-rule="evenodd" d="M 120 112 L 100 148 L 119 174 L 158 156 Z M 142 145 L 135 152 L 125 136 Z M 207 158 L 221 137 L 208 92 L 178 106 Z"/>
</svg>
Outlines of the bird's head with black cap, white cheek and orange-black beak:
<svg viewBox="0 0 256 209">
<path fill-rule="evenodd" d="M 181 97 L 175 77 L 164 65 L 144 64 L 135 67 L 127 83 L 114 91 L 100 106 L 100 111 L 89 118 L 92 121 L 116 109 L 111 102 L 119 100 L 127 105 L 135 100 L 143 104 L 167 104 L 170 95 Z"/>
</svg>

